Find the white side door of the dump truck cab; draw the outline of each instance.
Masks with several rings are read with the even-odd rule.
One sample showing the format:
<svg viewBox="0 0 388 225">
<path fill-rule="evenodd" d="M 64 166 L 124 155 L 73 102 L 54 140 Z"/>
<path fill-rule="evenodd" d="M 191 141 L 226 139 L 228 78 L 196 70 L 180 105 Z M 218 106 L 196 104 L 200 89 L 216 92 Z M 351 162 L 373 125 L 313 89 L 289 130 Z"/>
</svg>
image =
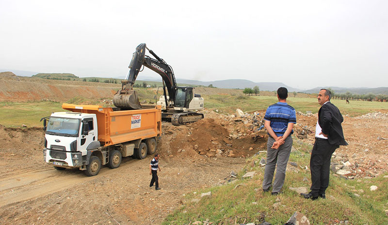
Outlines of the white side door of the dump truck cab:
<svg viewBox="0 0 388 225">
<path fill-rule="evenodd" d="M 97 140 L 97 127 L 94 127 L 93 118 L 85 118 L 81 120 L 81 125 L 81 135 L 78 144 L 78 150 L 86 151 L 88 145 Z"/>
</svg>

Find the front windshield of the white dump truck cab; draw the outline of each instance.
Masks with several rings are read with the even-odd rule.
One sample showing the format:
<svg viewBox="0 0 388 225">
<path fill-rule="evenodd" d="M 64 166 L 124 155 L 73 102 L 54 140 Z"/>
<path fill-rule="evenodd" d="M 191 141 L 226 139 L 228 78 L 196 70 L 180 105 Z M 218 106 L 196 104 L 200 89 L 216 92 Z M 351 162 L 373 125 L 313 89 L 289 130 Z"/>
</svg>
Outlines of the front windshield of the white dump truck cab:
<svg viewBox="0 0 388 225">
<path fill-rule="evenodd" d="M 50 117 L 46 132 L 58 135 L 78 135 L 79 130 L 79 119 Z"/>
</svg>

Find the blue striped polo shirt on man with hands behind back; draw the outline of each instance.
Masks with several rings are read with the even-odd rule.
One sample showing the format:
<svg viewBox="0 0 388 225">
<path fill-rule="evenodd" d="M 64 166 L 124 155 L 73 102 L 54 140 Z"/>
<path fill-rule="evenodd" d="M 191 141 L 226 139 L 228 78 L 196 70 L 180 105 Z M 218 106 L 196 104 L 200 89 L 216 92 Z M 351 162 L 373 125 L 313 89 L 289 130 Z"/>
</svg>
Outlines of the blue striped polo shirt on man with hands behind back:
<svg viewBox="0 0 388 225">
<path fill-rule="evenodd" d="M 270 105 L 265 112 L 264 120 L 271 121 L 271 128 L 274 130 L 276 136 L 283 136 L 287 130 L 288 124 L 296 123 L 295 109 L 287 103 L 278 102 Z M 291 131 L 291 134 L 294 131 Z"/>
</svg>

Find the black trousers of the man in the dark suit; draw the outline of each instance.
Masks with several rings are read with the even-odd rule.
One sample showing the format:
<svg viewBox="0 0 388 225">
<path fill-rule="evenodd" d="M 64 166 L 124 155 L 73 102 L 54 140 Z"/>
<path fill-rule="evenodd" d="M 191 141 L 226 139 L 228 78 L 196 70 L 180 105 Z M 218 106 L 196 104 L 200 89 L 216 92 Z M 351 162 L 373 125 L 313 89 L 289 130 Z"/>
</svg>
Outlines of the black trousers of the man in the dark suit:
<svg viewBox="0 0 388 225">
<path fill-rule="evenodd" d="M 329 186 L 330 160 L 339 145 L 331 145 L 327 139 L 316 138 L 310 158 L 311 195 L 325 194 Z"/>
</svg>

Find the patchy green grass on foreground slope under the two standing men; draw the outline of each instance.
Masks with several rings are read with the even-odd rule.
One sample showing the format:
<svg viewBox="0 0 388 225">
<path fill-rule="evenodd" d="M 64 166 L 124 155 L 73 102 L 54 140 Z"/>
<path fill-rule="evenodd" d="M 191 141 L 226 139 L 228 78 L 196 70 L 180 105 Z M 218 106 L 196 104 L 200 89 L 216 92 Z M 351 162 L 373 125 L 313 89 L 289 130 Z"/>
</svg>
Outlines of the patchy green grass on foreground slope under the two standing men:
<svg viewBox="0 0 388 225">
<path fill-rule="evenodd" d="M 295 142 L 294 142 L 295 143 Z M 290 161 L 305 166 L 309 163 L 308 149 L 311 146 L 296 143 L 297 151 L 291 153 Z M 309 187 L 303 182 L 306 177 L 310 180 L 309 171 L 298 166 L 298 172 L 288 170 L 281 195 L 272 196 L 263 193 L 261 182 L 264 168 L 251 167 L 250 161 L 259 161 L 265 153 L 248 159 L 246 166 L 239 172 L 238 180 L 221 187 L 197 190 L 198 194 L 188 194 L 185 204 L 168 215 L 163 225 L 188 225 L 194 221 L 209 219 L 213 224 L 262 223 L 264 220 L 273 224 L 284 224 L 295 211 L 307 216 L 311 224 L 326 225 L 339 224 L 348 221 L 353 225 L 382 225 L 388 224 L 388 217 L 384 210 L 388 206 L 387 180 L 380 176 L 376 179 L 343 180 L 331 175 L 330 185 L 326 191 L 327 198 L 311 201 L 302 198 L 289 187 Z M 291 165 L 288 165 L 291 167 Z M 242 179 L 246 171 L 256 171 L 253 179 Z M 240 184 L 238 187 L 236 187 Z M 379 189 L 371 192 L 369 187 L 376 185 Z M 364 190 L 360 197 L 354 195 L 356 190 Z M 201 193 L 211 191 L 211 197 L 193 203 L 193 198 L 200 198 Z M 275 207 L 276 198 L 280 199 Z M 257 205 L 252 204 L 256 202 Z"/>
</svg>

